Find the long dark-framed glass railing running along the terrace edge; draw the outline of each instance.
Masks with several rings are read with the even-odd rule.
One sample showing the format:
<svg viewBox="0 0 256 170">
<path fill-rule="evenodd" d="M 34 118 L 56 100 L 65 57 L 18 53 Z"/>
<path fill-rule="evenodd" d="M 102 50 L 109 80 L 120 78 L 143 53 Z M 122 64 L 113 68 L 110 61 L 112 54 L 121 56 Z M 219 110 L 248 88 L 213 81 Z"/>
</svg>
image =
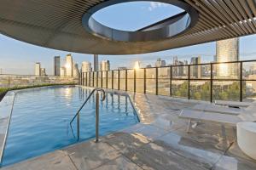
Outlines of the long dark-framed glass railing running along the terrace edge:
<svg viewBox="0 0 256 170">
<path fill-rule="evenodd" d="M 185 99 L 256 99 L 256 60 L 81 73 L 81 85 Z"/>
</svg>

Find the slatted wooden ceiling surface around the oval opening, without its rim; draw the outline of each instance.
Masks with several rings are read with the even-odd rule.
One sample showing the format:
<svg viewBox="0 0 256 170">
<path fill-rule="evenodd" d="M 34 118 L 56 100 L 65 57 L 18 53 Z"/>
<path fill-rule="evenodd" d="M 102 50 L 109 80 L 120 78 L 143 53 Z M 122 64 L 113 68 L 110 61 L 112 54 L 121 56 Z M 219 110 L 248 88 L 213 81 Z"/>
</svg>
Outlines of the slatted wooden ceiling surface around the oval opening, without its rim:
<svg viewBox="0 0 256 170">
<path fill-rule="evenodd" d="M 193 28 L 156 42 L 112 42 L 84 31 L 82 15 L 104 0 L 0 0 L 0 32 L 84 54 L 141 54 L 256 33 L 255 0 L 184 0 L 199 13 Z"/>
</svg>

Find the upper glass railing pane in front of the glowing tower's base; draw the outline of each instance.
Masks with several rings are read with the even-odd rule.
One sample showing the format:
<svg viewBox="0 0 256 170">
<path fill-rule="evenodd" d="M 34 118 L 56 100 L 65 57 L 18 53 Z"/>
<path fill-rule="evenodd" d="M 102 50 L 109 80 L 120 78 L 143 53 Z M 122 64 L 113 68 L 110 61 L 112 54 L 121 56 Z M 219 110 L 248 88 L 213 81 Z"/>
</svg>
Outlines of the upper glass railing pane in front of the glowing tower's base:
<svg viewBox="0 0 256 170">
<path fill-rule="evenodd" d="M 223 63 L 212 65 L 213 79 L 240 79 L 240 63 Z"/>
</svg>

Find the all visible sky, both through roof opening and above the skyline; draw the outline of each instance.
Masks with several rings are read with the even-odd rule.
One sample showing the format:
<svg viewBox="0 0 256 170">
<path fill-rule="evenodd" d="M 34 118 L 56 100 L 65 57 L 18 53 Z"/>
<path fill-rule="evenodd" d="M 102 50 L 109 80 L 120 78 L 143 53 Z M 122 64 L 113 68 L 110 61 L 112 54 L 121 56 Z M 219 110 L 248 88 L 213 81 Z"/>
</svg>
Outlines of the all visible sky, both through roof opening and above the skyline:
<svg viewBox="0 0 256 170">
<path fill-rule="evenodd" d="M 125 31 L 135 31 L 143 26 L 148 26 L 156 21 L 166 19 L 183 10 L 163 3 L 121 3 L 93 15 L 93 17 L 106 26 Z M 240 59 L 256 59 L 256 35 L 240 38 Z M 212 61 L 216 42 L 208 42 L 185 48 L 175 48 L 150 54 L 137 55 L 99 55 L 99 60 L 108 59 L 111 69 L 120 66 L 132 68 L 135 61 L 139 60 L 142 66 L 154 65 L 156 59 L 166 59 L 166 64 L 172 64 L 172 57 L 189 60 L 191 57 L 201 55 L 203 62 Z M 84 60 L 93 61 L 92 54 L 77 54 L 50 48 L 42 48 L 26 42 L 5 37 L 0 34 L 0 70 L 5 74 L 34 74 L 34 64 L 41 62 L 46 73 L 53 74 L 53 58 L 61 56 L 64 59 L 67 54 L 72 54 L 73 59 L 80 66 Z"/>
</svg>

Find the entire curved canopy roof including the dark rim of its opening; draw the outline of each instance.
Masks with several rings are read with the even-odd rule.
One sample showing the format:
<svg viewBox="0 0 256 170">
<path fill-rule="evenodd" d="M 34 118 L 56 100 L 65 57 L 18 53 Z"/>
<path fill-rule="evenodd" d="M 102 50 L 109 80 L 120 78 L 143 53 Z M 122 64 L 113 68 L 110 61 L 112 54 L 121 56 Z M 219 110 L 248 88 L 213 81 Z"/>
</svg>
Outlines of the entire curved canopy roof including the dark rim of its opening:
<svg viewBox="0 0 256 170">
<path fill-rule="evenodd" d="M 158 0 L 186 13 L 135 32 L 100 26 L 90 17 L 101 8 L 131 1 L 1 0 L 0 32 L 38 46 L 83 54 L 143 54 L 256 32 L 253 0 Z"/>
</svg>

